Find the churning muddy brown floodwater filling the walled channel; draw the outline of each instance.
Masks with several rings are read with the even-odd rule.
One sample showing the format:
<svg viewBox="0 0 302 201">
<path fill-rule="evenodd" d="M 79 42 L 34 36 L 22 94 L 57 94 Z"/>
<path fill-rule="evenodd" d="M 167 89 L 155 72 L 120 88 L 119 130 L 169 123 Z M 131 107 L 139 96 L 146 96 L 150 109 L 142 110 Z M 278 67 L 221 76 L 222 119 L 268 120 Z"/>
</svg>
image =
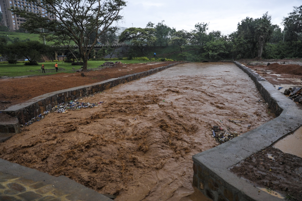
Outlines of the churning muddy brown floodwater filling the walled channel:
<svg viewBox="0 0 302 201">
<path fill-rule="evenodd" d="M 208 200 L 192 187 L 192 156 L 218 145 L 211 126 L 242 134 L 272 119 L 231 63 L 178 65 L 81 101 L 104 104 L 50 113 L 2 143 L 0 157 L 115 200 Z"/>
</svg>

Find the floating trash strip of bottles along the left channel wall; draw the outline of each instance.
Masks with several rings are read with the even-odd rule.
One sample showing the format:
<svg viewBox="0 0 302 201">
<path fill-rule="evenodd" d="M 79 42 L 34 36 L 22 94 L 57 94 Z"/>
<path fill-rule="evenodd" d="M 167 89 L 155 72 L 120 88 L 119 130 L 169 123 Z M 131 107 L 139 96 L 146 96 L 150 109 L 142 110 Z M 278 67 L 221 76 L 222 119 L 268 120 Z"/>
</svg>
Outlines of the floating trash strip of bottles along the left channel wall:
<svg viewBox="0 0 302 201">
<path fill-rule="evenodd" d="M 93 97 L 93 95 L 89 95 L 89 97 Z M 80 110 L 80 109 L 86 109 L 86 108 L 94 108 L 94 107 L 98 107 L 100 104 L 104 103 L 104 102 L 98 102 L 98 103 L 89 103 L 89 102 L 81 102 L 79 100 L 83 100 L 83 99 L 76 99 L 74 101 L 69 101 L 66 103 L 61 103 L 59 105 L 56 105 L 55 107 L 53 107 L 50 110 L 47 110 L 45 112 L 43 112 L 42 114 L 39 114 L 38 116 L 32 118 L 29 122 L 20 125 L 21 127 L 23 126 L 28 126 L 31 125 L 32 123 L 36 122 L 36 121 L 40 121 L 41 119 L 43 119 L 45 117 L 45 115 L 49 114 L 49 113 L 53 113 L 53 112 L 57 112 L 57 113 L 68 113 L 68 111 L 71 110 Z"/>
</svg>

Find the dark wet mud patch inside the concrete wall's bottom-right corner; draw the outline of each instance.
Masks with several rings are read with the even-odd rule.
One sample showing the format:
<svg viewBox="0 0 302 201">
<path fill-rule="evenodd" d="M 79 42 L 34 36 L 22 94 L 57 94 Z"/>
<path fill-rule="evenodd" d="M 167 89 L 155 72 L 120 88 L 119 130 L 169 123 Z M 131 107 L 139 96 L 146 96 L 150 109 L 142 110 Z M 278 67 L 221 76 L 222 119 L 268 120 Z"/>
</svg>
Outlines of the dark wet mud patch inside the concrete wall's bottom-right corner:
<svg viewBox="0 0 302 201">
<path fill-rule="evenodd" d="M 300 157 L 268 147 L 246 158 L 231 171 L 274 196 L 301 201 L 301 163 Z"/>
</svg>

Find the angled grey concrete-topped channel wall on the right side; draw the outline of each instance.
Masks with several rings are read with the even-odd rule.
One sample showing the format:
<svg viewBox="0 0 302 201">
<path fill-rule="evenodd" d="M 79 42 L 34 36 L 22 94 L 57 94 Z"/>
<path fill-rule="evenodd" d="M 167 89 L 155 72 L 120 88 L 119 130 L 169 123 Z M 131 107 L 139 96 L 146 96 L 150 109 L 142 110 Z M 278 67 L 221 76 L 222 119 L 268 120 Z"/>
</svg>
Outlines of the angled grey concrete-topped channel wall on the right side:
<svg viewBox="0 0 302 201">
<path fill-rule="evenodd" d="M 193 186 L 214 201 L 284 200 L 259 190 L 229 169 L 301 126 L 302 111 L 255 71 L 239 62 L 233 63 L 251 77 L 277 117 L 226 143 L 194 155 Z"/>
</svg>

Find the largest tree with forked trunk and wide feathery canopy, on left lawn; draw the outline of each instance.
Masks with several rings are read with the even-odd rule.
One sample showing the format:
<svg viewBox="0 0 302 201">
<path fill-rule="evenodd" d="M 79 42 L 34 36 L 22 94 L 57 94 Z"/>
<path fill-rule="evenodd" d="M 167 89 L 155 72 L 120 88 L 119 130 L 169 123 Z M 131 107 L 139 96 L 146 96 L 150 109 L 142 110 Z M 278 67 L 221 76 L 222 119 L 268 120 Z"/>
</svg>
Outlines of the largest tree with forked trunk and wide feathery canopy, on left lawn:
<svg viewBox="0 0 302 201">
<path fill-rule="evenodd" d="M 65 34 L 79 47 L 83 60 L 83 71 L 87 70 L 87 61 L 98 37 L 103 34 L 113 22 L 122 19 L 120 11 L 126 6 L 123 0 L 29 0 L 44 9 L 44 14 L 33 13 L 14 8 L 13 12 L 27 19 L 21 27 L 31 33 L 40 33 L 44 28 L 46 33 Z M 50 17 L 50 18 L 48 18 Z M 54 17 L 54 19 L 53 19 Z M 94 40 L 91 40 L 94 35 Z M 88 46 L 91 45 L 91 46 Z"/>
</svg>

